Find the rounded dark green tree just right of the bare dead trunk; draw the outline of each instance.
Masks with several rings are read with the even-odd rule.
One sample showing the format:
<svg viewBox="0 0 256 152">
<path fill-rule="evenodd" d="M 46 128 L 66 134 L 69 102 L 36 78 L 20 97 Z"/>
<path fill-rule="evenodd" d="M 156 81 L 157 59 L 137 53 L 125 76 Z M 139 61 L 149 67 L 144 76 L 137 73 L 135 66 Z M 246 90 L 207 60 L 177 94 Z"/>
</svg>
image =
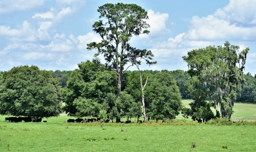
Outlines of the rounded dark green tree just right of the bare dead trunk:
<svg viewBox="0 0 256 152">
<path fill-rule="evenodd" d="M 150 98 L 152 118 L 175 119 L 181 110 L 181 95 L 175 79 L 168 71 L 156 73 L 154 79 L 148 83 L 153 88 Z"/>
</svg>

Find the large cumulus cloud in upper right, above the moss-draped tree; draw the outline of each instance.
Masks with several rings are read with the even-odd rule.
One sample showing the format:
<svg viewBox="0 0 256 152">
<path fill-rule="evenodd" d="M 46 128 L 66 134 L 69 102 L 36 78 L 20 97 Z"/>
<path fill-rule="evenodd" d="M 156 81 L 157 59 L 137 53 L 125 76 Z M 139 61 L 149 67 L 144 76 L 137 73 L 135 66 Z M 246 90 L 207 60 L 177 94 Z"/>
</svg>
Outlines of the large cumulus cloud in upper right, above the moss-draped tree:
<svg viewBox="0 0 256 152">
<path fill-rule="evenodd" d="M 191 19 L 186 38 L 192 40 L 251 41 L 256 38 L 256 1 L 230 0 L 214 14 Z"/>
</svg>

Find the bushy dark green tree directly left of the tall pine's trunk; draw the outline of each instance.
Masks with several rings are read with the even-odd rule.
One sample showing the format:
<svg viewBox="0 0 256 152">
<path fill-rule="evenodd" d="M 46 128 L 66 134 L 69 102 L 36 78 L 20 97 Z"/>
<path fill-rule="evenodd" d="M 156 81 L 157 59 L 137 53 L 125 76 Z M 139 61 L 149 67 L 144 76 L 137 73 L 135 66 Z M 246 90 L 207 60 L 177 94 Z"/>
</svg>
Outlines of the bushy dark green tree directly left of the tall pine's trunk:
<svg viewBox="0 0 256 152">
<path fill-rule="evenodd" d="M 99 111 L 109 112 L 113 103 L 108 94 L 117 92 L 115 74 L 108 72 L 98 59 L 81 62 L 72 72 L 67 88 L 63 91 L 65 110 L 70 115 L 97 117 Z"/>
</svg>

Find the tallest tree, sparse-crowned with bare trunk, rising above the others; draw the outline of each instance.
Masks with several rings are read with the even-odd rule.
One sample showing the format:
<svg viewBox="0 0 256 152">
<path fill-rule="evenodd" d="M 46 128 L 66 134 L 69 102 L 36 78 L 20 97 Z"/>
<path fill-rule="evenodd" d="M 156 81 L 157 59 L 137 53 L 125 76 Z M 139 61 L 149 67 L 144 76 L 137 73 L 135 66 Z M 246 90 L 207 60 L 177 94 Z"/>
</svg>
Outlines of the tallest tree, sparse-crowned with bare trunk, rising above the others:
<svg viewBox="0 0 256 152">
<path fill-rule="evenodd" d="M 118 94 L 122 88 L 124 67 L 141 64 L 144 59 L 147 64 L 154 64 L 153 53 L 150 50 L 140 50 L 129 43 L 132 36 L 147 34 L 150 26 L 146 23 L 147 12 L 135 4 L 105 4 L 99 7 L 99 21 L 93 25 L 93 30 L 101 37 L 101 42 L 91 42 L 88 50 L 97 49 L 95 56 L 103 54 L 105 60 L 117 75 Z M 140 60 L 139 60 L 140 59 Z"/>
</svg>

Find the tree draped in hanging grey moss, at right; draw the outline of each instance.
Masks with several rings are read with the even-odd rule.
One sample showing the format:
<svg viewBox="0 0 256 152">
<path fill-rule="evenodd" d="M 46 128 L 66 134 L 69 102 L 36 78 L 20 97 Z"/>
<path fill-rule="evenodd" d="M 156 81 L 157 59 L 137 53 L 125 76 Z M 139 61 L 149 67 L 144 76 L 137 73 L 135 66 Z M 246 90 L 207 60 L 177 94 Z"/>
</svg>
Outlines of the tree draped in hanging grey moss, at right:
<svg viewBox="0 0 256 152">
<path fill-rule="evenodd" d="M 242 75 L 248 51 L 249 48 L 246 48 L 238 53 L 239 46 L 226 41 L 224 47 L 209 46 L 183 56 L 190 76 L 200 81 L 198 86 L 201 89 L 209 89 L 208 97 L 215 100 L 217 114 L 217 105 L 221 105 L 222 117 L 231 117 L 233 102 L 244 80 Z"/>
</svg>

